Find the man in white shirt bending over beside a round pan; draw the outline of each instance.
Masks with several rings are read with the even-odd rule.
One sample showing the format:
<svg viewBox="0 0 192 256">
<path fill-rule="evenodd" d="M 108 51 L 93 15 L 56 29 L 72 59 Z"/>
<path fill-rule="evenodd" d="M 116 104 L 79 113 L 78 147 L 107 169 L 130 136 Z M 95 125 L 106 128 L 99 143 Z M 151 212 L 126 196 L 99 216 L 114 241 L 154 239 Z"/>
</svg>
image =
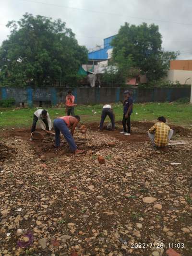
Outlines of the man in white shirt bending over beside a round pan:
<svg viewBox="0 0 192 256">
<path fill-rule="evenodd" d="M 36 130 L 36 122 L 40 122 L 41 128 L 45 131 L 51 130 L 51 120 L 47 110 L 36 110 L 33 115 L 33 124 L 31 127 L 31 133 Z"/>
</svg>

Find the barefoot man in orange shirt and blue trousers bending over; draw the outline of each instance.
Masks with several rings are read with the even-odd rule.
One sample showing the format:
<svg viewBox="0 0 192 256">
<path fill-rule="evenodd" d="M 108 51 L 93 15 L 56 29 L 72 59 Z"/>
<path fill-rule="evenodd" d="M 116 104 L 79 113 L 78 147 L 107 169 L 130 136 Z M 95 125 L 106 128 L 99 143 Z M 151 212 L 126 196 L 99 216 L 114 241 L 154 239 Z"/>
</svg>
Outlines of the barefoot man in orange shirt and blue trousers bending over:
<svg viewBox="0 0 192 256">
<path fill-rule="evenodd" d="M 81 154 L 84 153 L 84 150 L 77 149 L 77 146 L 75 144 L 75 141 L 73 139 L 73 133 L 75 130 L 75 127 L 77 126 L 78 122 L 80 121 L 79 116 L 62 116 L 58 117 L 53 121 L 53 126 L 55 130 L 55 146 L 60 146 L 60 132 L 65 137 L 66 141 L 68 142 L 70 149 L 75 154 Z M 71 133 L 70 130 L 71 129 Z"/>
</svg>

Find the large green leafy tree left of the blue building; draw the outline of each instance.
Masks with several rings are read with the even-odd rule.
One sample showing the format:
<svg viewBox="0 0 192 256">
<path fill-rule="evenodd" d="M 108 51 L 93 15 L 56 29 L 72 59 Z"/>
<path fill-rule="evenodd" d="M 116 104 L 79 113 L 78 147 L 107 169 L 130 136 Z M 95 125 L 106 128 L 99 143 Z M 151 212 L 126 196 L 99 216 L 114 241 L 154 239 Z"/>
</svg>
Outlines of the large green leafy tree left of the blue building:
<svg viewBox="0 0 192 256">
<path fill-rule="evenodd" d="M 79 46 L 60 19 L 25 13 L 7 24 L 11 35 L 0 47 L 1 84 L 65 85 L 72 83 L 87 49 Z"/>
</svg>

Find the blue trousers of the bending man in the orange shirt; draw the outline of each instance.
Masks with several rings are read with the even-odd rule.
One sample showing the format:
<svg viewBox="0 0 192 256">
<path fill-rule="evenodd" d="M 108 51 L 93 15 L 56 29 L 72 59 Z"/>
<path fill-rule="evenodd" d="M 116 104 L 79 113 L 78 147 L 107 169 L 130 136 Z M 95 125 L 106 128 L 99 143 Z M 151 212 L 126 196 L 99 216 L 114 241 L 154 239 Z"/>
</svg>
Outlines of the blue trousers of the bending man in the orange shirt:
<svg viewBox="0 0 192 256">
<path fill-rule="evenodd" d="M 60 132 L 61 132 L 61 134 L 63 134 L 66 141 L 68 142 L 70 149 L 72 151 L 75 151 L 77 149 L 77 146 L 75 144 L 72 134 L 70 133 L 70 130 L 67 127 L 67 124 L 65 123 L 65 121 L 60 118 L 57 118 L 53 121 L 53 127 L 55 130 L 55 146 L 60 146 Z"/>
</svg>

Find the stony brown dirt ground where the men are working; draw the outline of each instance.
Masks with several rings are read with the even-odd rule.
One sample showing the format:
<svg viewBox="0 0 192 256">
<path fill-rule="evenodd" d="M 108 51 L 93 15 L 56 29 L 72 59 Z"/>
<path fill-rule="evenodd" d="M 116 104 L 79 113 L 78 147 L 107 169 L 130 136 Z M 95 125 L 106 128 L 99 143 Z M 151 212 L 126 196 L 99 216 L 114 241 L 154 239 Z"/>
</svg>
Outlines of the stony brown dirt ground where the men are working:
<svg viewBox="0 0 192 256">
<path fill-rule="evenodd" d="M 173 127 L 187 144 L 163 152 L 148 141 L 150 122 L 132 122 L 131 136 L 120 124 L 87 126 L 86 139 L 74 135 L 84 155 L 64 140 L 56 150 L 51 135 L 30 143 L 29 130 L 0 133 L 0 255 L 174 256 L 170 245 L 191 256 L 191 132 Z"/>
</svg>

